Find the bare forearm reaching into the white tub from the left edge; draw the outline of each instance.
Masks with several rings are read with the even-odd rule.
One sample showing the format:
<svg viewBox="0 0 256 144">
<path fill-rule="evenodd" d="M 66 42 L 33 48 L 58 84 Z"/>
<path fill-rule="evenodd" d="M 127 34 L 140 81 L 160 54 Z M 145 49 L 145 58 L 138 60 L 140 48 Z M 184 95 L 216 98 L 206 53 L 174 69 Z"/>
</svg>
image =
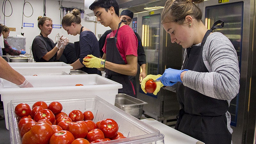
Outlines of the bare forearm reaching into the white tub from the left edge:
<svg viewBox="0 0 256 144">
<path fill-rule="evenodd" d="M 14 84 L 20 85 L 25 77 L 15 71 L 2 57 L 0 57 L 0 77 Z"/>
</svg>

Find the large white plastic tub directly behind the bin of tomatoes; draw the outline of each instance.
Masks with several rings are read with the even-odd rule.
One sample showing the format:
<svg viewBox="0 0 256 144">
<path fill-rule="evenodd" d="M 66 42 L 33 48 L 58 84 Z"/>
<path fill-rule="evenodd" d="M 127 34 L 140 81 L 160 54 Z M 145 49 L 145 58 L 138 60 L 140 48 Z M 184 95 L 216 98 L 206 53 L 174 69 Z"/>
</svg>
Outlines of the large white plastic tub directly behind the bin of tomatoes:
<svg viewBox="0 0 256 144">
<path fill-rule="evenodd" d="M 97 74 L 25 77 L 33 84 L 33 88 L 19 88 L 15 84 L 4 80 L 4 88 L 0 89 L 1 100 L 4 103 L 4 116 L 7 129 L 9 128 L 7 103 L 11 100 L 97 95 L 112 105 L 115 105 L 118 89 L 122 88 L 122 84 Z M 78 83 L 84 86 L 75 86 Z"/>
</svg>

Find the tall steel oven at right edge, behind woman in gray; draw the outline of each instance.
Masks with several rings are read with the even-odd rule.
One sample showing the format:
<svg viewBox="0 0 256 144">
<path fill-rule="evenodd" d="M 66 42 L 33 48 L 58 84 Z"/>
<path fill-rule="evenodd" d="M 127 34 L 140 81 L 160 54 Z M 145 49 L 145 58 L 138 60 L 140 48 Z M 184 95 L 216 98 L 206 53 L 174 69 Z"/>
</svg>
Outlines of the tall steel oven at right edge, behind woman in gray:
<svg viewBox="0 0 256 144">
<path fill-rule="evenodd" d="M 224 27 L 213 32 L 223 33 L 236 49 L 240 68 L 240 90 L 228 109 L 231 114 L 231 128 L 234 130 L 232 140 L 233 143 L 253 143 L 256 111 L 253 74 L 253 47 L 255 48 L 256 42 L 255 0 L 208 0 L 198 6 L 203 10 L 202 20 L 208 29 L 214 21 L 224 21 Z"/>
</svg>

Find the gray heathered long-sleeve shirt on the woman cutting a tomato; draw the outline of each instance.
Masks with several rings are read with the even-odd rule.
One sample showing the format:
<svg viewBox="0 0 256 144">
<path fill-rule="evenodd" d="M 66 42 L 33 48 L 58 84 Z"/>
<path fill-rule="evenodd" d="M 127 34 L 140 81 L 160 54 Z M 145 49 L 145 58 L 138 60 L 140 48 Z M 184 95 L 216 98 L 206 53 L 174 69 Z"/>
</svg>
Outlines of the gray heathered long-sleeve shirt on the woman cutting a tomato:
<svg viewBox="0 0 256 144">
<path fill-rule="evenodd" d="M 184 58 L 186 56 L 185 51 Z M 188 70 L 183 76 L 184 86 L 215 99 L 227 100 L 229 104 L 240 87 L 238 59 L 234 46 L 226 36 L 214 32 L 205 41 L 203 60 L 209 72 Z M 168 86 L 166 89 L 175 92 L 176 86 Z"/>
</svg>

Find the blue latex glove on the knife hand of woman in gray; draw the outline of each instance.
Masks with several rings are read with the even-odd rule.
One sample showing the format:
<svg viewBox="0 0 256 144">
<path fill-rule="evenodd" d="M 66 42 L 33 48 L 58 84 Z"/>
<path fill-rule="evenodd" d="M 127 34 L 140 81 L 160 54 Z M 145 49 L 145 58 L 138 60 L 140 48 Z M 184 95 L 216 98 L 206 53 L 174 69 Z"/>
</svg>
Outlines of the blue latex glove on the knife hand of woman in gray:
<svg viewBox="0 0 256 144">
<path fill-rule="evenodd" d="M 176 84 L 177 82 L 182 82 L 180 78 L 180 74 L 183 71 L 187 71 L 188 69 L 178 70 L 178 69 L 172 69 L 168 68 L 165 69 L 164 74 L 157 78 L 156 80 L 161 80 L 161 83 L 165 86 L 172 86 L 173 84 Z"/>
</svg>

